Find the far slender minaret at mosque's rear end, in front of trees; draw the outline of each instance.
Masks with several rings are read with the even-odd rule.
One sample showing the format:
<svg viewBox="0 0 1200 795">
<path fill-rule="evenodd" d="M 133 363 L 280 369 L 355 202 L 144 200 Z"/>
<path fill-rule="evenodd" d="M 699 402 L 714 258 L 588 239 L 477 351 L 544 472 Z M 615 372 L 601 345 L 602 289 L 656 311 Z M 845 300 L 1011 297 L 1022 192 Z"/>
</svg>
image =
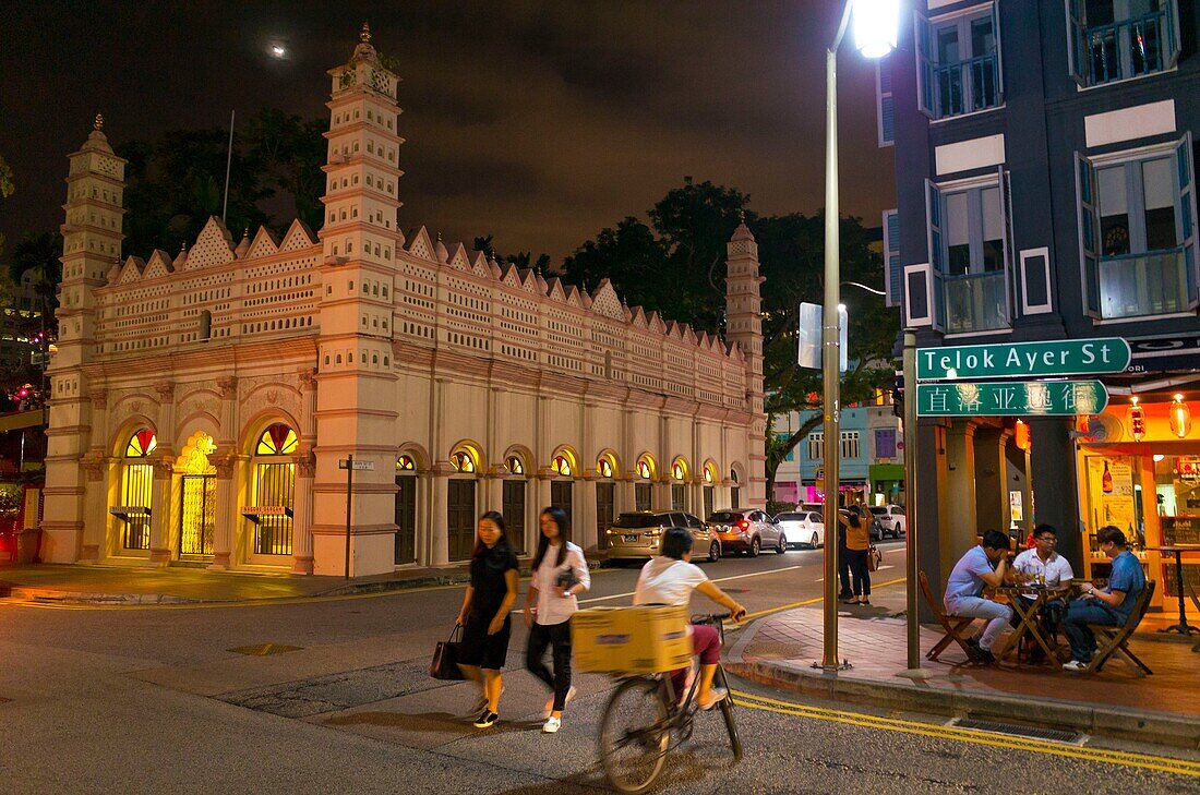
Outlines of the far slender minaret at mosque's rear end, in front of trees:
<svg viewBox="0 0 1200 795">
<path fill-rule="evenodd" d="M 727 272 L 725 277 L 725 337 L 736 342 L 745 356 L 746 403 L 754 416 L 746 439 L 749 460 L 749 505 L 767 504 L 767 415 L 763 412 L 762 385 L 762 296 L 758 285 L 758 243 L 750 228 L 742 223 L 726 243 Z"/>
</svg>

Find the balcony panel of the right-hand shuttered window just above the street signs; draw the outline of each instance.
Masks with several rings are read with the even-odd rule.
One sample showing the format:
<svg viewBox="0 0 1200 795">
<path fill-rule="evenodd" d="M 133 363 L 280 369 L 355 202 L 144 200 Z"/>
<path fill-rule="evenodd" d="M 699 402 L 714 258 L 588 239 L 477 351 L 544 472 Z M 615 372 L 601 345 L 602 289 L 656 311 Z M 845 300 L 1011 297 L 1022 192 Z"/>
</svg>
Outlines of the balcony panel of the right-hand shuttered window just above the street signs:
<svg viewBox="0 0 1200 795">
<path fill-rule="evenodd" d="M 1192 285 L 1186 247 L 1102 257 L 1100 317 L 1105 320 L 1187 312 Z"/>
</svg>

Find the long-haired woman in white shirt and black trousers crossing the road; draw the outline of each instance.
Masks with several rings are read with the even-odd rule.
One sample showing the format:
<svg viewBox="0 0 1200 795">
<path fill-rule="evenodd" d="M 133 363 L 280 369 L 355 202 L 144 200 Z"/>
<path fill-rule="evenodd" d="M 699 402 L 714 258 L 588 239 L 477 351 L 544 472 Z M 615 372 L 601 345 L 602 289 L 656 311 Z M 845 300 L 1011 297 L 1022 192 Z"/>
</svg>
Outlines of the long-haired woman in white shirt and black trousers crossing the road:
<svg viewBox="0 0 1200 795">
<path fill-rule="evenodd" d="M 548 507 L 541 512 L 541 538 L 533 558 L 533 580 L 526 598 L 524 618 L 529 626 L 526 668 L 546 682 L 554 697 L 546 703 L 546 723 L 541 730 L 558 731 L 563 725 L 563 707 L 575 695 L 571 687 L 571 616 L 580 609 L 575 598 L 592 586 L 583 550 L 571 543 L 566 512 Z M 554 673 L 542 660 L 552 646 Z"/>
</svg>

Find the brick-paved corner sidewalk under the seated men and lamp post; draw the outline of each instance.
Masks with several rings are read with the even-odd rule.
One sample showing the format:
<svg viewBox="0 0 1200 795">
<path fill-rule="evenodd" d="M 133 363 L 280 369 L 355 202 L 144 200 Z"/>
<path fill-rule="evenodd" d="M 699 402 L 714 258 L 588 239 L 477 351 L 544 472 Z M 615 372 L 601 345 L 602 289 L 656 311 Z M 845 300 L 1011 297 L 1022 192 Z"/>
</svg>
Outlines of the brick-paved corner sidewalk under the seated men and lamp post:
<svg viewBox="0 0 1200 795">
<path fill-rule="evenodd" d="M 852 668 L 826 673 L 821 604 L 755 621 L 728 654 L 731 673 L 762 683 L 833 700 L 958 717 L 1073 729 L 1200 749 L 1200 654 L 1192 642 L 1157 634 L 1169 615 L 1147 615 L 1130 649 L 1154 671 L 1138 677 L 1122 660 L 1098 675 L 1051 665 L 966 662 L 958 646 L 940 662 L 924 658 L 942 637 L 922 627 L 922 667 L 930 676 L 912 680 L 907 668 L 902 588 L 871 594 L 870 607 L 840 604 L 838 652 Z"/>
</svg>

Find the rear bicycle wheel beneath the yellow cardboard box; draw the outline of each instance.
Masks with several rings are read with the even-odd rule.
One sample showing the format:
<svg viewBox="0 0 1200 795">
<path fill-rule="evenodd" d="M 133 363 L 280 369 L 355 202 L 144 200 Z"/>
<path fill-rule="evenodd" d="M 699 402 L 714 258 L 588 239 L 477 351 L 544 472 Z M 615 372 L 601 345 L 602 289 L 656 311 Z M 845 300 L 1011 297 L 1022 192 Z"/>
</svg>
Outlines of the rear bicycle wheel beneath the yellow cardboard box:
<svg viewBox="0 0 1200 795">
<path fill-rule="evenodd" d="M 600 765 L 622 793 L 641 793 L 666 763 L 671 740 L 661 683 L 626 679 L 613 691 L 600 719 Z"/>
</svg>

